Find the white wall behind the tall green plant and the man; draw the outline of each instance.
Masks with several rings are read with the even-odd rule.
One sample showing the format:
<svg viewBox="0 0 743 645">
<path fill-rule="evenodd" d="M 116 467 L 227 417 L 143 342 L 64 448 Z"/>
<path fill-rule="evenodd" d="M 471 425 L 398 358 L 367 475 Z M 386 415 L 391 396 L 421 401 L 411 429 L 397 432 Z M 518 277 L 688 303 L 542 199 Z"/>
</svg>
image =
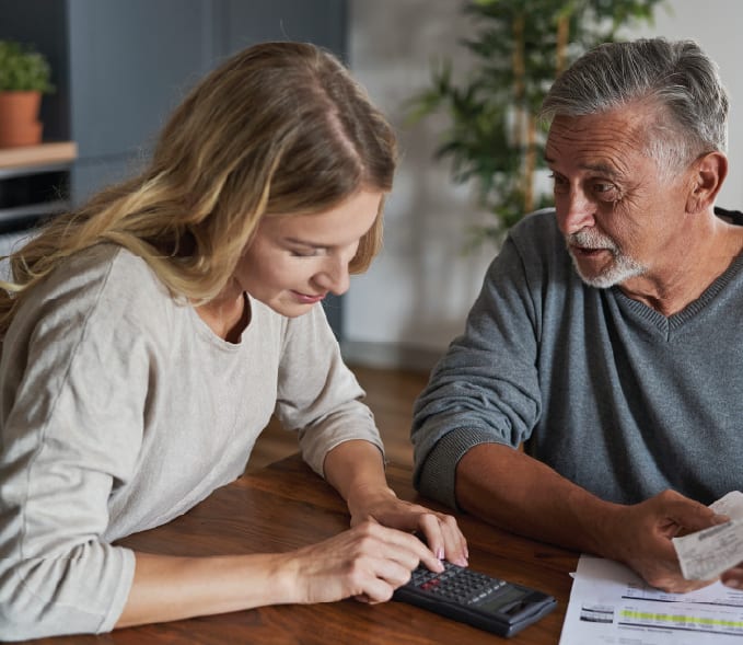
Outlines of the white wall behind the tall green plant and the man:
<svg viewBox="0 0 743 645">
<path fill-rule="evenodd" d="M 430 64 L 450 57 L 466 69 L 458 38 L 467 34 L 461 2 L 351 0 L 349 62 L 397 133 L 403 160 L 387 203 L 385 246 L 345 297 L 344 344 L 352 362 L 430 367 L 460 333 L 495 249 L 462 253 L 468 226 L 487 220 L 471 191 L 455 186 L 448 164 L 432 160 L 441 123 L 410 126 L 404 103 L 425 88 Z M 743 209 L 743 24 L 740 0 L 670 0 L 652 28 L 631 36 L 694 38 L 720 66 L 731 95 L 730 176 L 718 204 Z M 437 129 L 439 126 L 439 129 Z"/>
</svg>

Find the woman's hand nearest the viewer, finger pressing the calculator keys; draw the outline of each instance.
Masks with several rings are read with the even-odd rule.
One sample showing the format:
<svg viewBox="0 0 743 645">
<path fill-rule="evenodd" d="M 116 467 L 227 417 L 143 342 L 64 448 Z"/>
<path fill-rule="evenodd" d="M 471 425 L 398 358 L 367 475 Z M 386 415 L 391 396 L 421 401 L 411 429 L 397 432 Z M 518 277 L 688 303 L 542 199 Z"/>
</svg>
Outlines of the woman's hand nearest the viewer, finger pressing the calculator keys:
<svg viewBox="0 0 743 645">
<path fill-rule="evenodd" d="M 410 579 L 419 562 L 432 571 L 443 571 L 443 565 L 413 534 L 371 520 L 287 555 L 281 566 L 287 601 L 299 603 L 349 597 L 384 602 Z"/>
</svg>

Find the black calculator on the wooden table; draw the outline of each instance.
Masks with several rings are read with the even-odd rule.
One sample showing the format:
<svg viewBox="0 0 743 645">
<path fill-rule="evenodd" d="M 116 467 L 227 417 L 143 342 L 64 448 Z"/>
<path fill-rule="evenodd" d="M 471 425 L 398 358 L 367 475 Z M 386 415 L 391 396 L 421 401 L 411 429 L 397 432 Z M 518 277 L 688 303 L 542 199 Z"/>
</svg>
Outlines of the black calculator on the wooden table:
<svg viewBox="0 0 743 645">
<path fill-rule="evenodd" d="M 542 591 L 444 562 L 442 573 L 420 565 L 393 598 L 460 622 L 512 636 L 557 606 Z"/>
</svg>

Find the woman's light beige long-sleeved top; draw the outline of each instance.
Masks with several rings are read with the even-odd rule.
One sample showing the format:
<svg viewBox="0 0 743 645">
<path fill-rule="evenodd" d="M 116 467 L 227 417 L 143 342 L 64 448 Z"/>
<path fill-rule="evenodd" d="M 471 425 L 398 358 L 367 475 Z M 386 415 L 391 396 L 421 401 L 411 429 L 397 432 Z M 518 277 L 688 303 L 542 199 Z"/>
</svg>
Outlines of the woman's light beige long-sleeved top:
<svg viewBox="0 0 743 645">
<path fill-rule="evenodd" d="M 135 565 L 112 542 L 240 476 L 275 410 L 318 473 L 348 439 L 381 449 L 322 308 L 249 304 L 227 343 L 105 245 L 19 311 L 0 362 L 0 640 L 111 630 Z"/>
</svg>

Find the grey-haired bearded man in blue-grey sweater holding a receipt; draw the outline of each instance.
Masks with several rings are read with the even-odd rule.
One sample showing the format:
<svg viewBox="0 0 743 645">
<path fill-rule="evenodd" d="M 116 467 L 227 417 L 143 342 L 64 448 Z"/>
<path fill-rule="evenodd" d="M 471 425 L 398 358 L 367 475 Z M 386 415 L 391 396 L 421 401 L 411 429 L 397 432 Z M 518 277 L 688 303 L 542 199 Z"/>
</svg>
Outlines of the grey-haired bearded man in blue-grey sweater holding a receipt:
<svg viewBox="0 0 743 645">
<path fill-rule="evenodd" d="M 689 590 L 671 538 L 724 521 L 706 505 L 743 483 L 727 93 L 695 43 L 659 38 L 584 55 L 543 112 L 555 209 L 511 231 L 421 393 L 415 482 Z"/>
</svg>

